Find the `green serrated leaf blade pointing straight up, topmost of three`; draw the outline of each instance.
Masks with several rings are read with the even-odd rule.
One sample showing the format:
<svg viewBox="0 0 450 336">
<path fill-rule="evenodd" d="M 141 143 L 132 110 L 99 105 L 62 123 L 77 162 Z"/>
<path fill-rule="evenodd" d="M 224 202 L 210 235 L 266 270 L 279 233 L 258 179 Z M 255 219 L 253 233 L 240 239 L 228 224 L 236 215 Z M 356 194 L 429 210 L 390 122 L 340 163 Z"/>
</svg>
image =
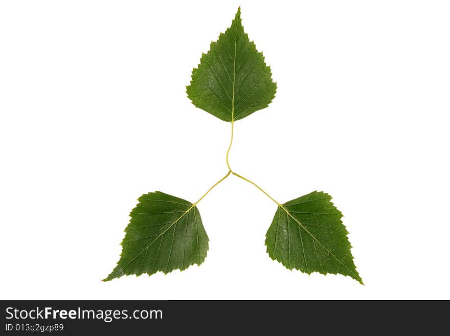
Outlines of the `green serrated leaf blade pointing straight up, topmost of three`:
<svg viewBox="0 0 450 336">
<path fill-rule="evenodd" d="M 244 33 L 239 8 L 231 27 L 192 70 L 187 94 L 195 106 L 232 122 L 267 107 L 276 89 L 264 56 Z"/>
</svg>

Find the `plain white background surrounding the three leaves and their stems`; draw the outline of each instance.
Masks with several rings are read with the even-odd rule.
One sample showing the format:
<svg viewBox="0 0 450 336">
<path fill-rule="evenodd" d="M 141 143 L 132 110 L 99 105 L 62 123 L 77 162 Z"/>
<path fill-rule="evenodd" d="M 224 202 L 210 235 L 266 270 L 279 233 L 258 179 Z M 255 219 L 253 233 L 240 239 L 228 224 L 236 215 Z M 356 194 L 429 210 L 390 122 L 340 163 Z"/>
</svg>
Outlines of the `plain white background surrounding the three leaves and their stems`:
<svg viewBox="0 0 450 336">
<path fill-rule="evenodd" d="M 187 271 L 105 278 L 136 199 L 195 201 L 227 172 L 230 123 L 186 97 L 193 66 L 243 25 L 273 103 L 235 124 L 232 168 L 284 203 L 344 213 L 365 286 L 265 252 L 276 205 L 235 176 L 198 208 Z M 446 1 L 3 1 L 1 299 L 450 299 Z"/>
</svg>

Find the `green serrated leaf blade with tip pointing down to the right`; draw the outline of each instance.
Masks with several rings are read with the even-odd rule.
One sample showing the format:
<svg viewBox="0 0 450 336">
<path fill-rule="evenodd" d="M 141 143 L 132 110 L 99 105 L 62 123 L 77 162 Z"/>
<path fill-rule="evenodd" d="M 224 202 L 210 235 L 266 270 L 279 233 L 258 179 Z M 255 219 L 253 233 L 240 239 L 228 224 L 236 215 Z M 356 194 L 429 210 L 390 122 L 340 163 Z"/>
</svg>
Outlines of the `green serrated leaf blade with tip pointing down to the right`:
<svg viewBox="0 0 450 336">
<path fill-rule="evenodd" d="M 266 234 L 269 256 L 307 274 L 343 274 L 363 283 L 353 263 L 342 213 L 324 192 L 280 205 Z"/>
</svg>

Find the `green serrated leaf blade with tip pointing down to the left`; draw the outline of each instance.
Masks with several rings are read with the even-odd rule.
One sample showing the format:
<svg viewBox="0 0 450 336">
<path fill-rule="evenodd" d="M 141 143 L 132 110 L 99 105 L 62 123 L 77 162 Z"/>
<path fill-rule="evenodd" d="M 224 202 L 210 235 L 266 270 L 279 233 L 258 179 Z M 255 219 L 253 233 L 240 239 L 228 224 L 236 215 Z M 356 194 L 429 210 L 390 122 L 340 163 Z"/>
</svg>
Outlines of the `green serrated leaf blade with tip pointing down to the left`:
<svg viewBox="0 0 450 336">
<path fill-rule="evenodd" d="M 104 281 L 129 274 L 183 271 L 205 260 L 209 239 L 194 204 L 160 191 L 138 200 L 125 229 L 120 260 Z"/>
</svg>

